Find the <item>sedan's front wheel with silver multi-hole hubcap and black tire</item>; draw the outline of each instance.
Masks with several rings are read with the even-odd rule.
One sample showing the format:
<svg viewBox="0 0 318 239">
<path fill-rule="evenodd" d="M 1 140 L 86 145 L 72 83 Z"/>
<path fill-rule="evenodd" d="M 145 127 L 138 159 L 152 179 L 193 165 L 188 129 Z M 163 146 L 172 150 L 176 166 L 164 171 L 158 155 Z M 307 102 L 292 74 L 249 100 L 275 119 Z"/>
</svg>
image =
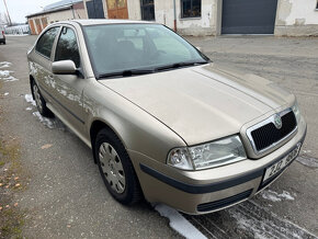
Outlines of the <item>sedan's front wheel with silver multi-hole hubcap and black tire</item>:
<svg viewBox="0 0 318 239">
<path fill-rule="evenodd" d="M 124 205 L 137 203 L 141 197 L 139 181 L 125 147 L 111 129 L 98 133 L 94 155 L 111 195 Z"/>
</svg>

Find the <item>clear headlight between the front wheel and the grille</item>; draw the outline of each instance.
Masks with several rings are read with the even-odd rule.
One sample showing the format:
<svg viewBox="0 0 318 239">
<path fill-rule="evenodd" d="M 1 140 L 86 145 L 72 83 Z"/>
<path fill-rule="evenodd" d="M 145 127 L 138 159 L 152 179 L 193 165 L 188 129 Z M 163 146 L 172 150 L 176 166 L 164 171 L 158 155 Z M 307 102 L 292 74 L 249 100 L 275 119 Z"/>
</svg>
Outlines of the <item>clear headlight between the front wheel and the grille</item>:
<svg viewBox="0 0 318 239">
<path fill-rule="evenodd" d="M 204 145 L 175 148 L 168 155 L 167 163 L 184 170 L 201 170 L 246 159 L 246 151 L 238 136 Z"/>
</svg>

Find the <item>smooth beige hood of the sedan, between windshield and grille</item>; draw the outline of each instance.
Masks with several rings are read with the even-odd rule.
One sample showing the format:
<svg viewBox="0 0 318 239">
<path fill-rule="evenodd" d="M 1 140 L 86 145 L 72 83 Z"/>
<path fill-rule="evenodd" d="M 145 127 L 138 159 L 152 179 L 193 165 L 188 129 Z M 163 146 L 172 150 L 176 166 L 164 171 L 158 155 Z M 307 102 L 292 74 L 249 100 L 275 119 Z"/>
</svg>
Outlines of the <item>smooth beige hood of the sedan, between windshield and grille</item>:
<svg viewBox="0 0 318 239">
<path fill-rule="evenodd" d="M 188 145 L 238 134 L 246 123 L 295 100 L 269 80 L 213 64 L 100 82 L 158 118 Z"/>
</svg>

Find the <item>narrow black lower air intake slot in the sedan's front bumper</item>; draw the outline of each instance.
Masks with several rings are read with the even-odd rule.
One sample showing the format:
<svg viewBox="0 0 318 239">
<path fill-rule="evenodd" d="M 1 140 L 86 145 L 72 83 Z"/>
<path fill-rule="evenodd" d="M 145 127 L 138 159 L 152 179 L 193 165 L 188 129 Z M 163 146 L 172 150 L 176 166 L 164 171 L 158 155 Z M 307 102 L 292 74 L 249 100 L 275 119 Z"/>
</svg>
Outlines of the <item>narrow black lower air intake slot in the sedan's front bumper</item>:
<svg viewBox="0 0 318 239">
<path fill-rule="evenodd" d="M 203 204 L 197 205 L 196 209 L 197 212 L 209 212 L 209 210 L 219 209 L 222 207 L 226 207 L 226 206 L 229 206 L 231 204 L 235 204 L 242 200 L 248 198 L 251 195 L 252 191 L 253 190 L 248 190 L 246 192 L 236 194 L 230 197 L 226 197 L 224 200 L 218 200 L 211 203 L 203 203 Z"/>
</svg>

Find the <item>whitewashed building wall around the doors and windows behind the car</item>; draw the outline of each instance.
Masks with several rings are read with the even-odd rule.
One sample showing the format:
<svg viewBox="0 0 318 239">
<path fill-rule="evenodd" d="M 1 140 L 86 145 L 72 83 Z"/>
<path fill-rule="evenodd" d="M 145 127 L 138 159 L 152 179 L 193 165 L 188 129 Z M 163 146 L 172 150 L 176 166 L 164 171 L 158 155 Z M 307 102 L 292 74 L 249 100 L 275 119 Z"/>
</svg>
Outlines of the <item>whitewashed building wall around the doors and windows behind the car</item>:
<svg viewBox="0 0 318 239">
<path fill-rule="evenodd" d="M 87 0 L 83 0 L 86 2 Z M 103 0 L 107 18 L 106 0 Z M 175 0 L 177 29 L 185 35 L 219 35 L 223 0 L 202 0 L 201 18 L 182 19 Z M 317 0 L 277 0 L 275 35 L 318 35 Z M 141 20 L 140 0 L 127 0 L 128 18 Z M 173 0 L 155 0 L 156 22 L 174 27 Z"/>
</svg>

